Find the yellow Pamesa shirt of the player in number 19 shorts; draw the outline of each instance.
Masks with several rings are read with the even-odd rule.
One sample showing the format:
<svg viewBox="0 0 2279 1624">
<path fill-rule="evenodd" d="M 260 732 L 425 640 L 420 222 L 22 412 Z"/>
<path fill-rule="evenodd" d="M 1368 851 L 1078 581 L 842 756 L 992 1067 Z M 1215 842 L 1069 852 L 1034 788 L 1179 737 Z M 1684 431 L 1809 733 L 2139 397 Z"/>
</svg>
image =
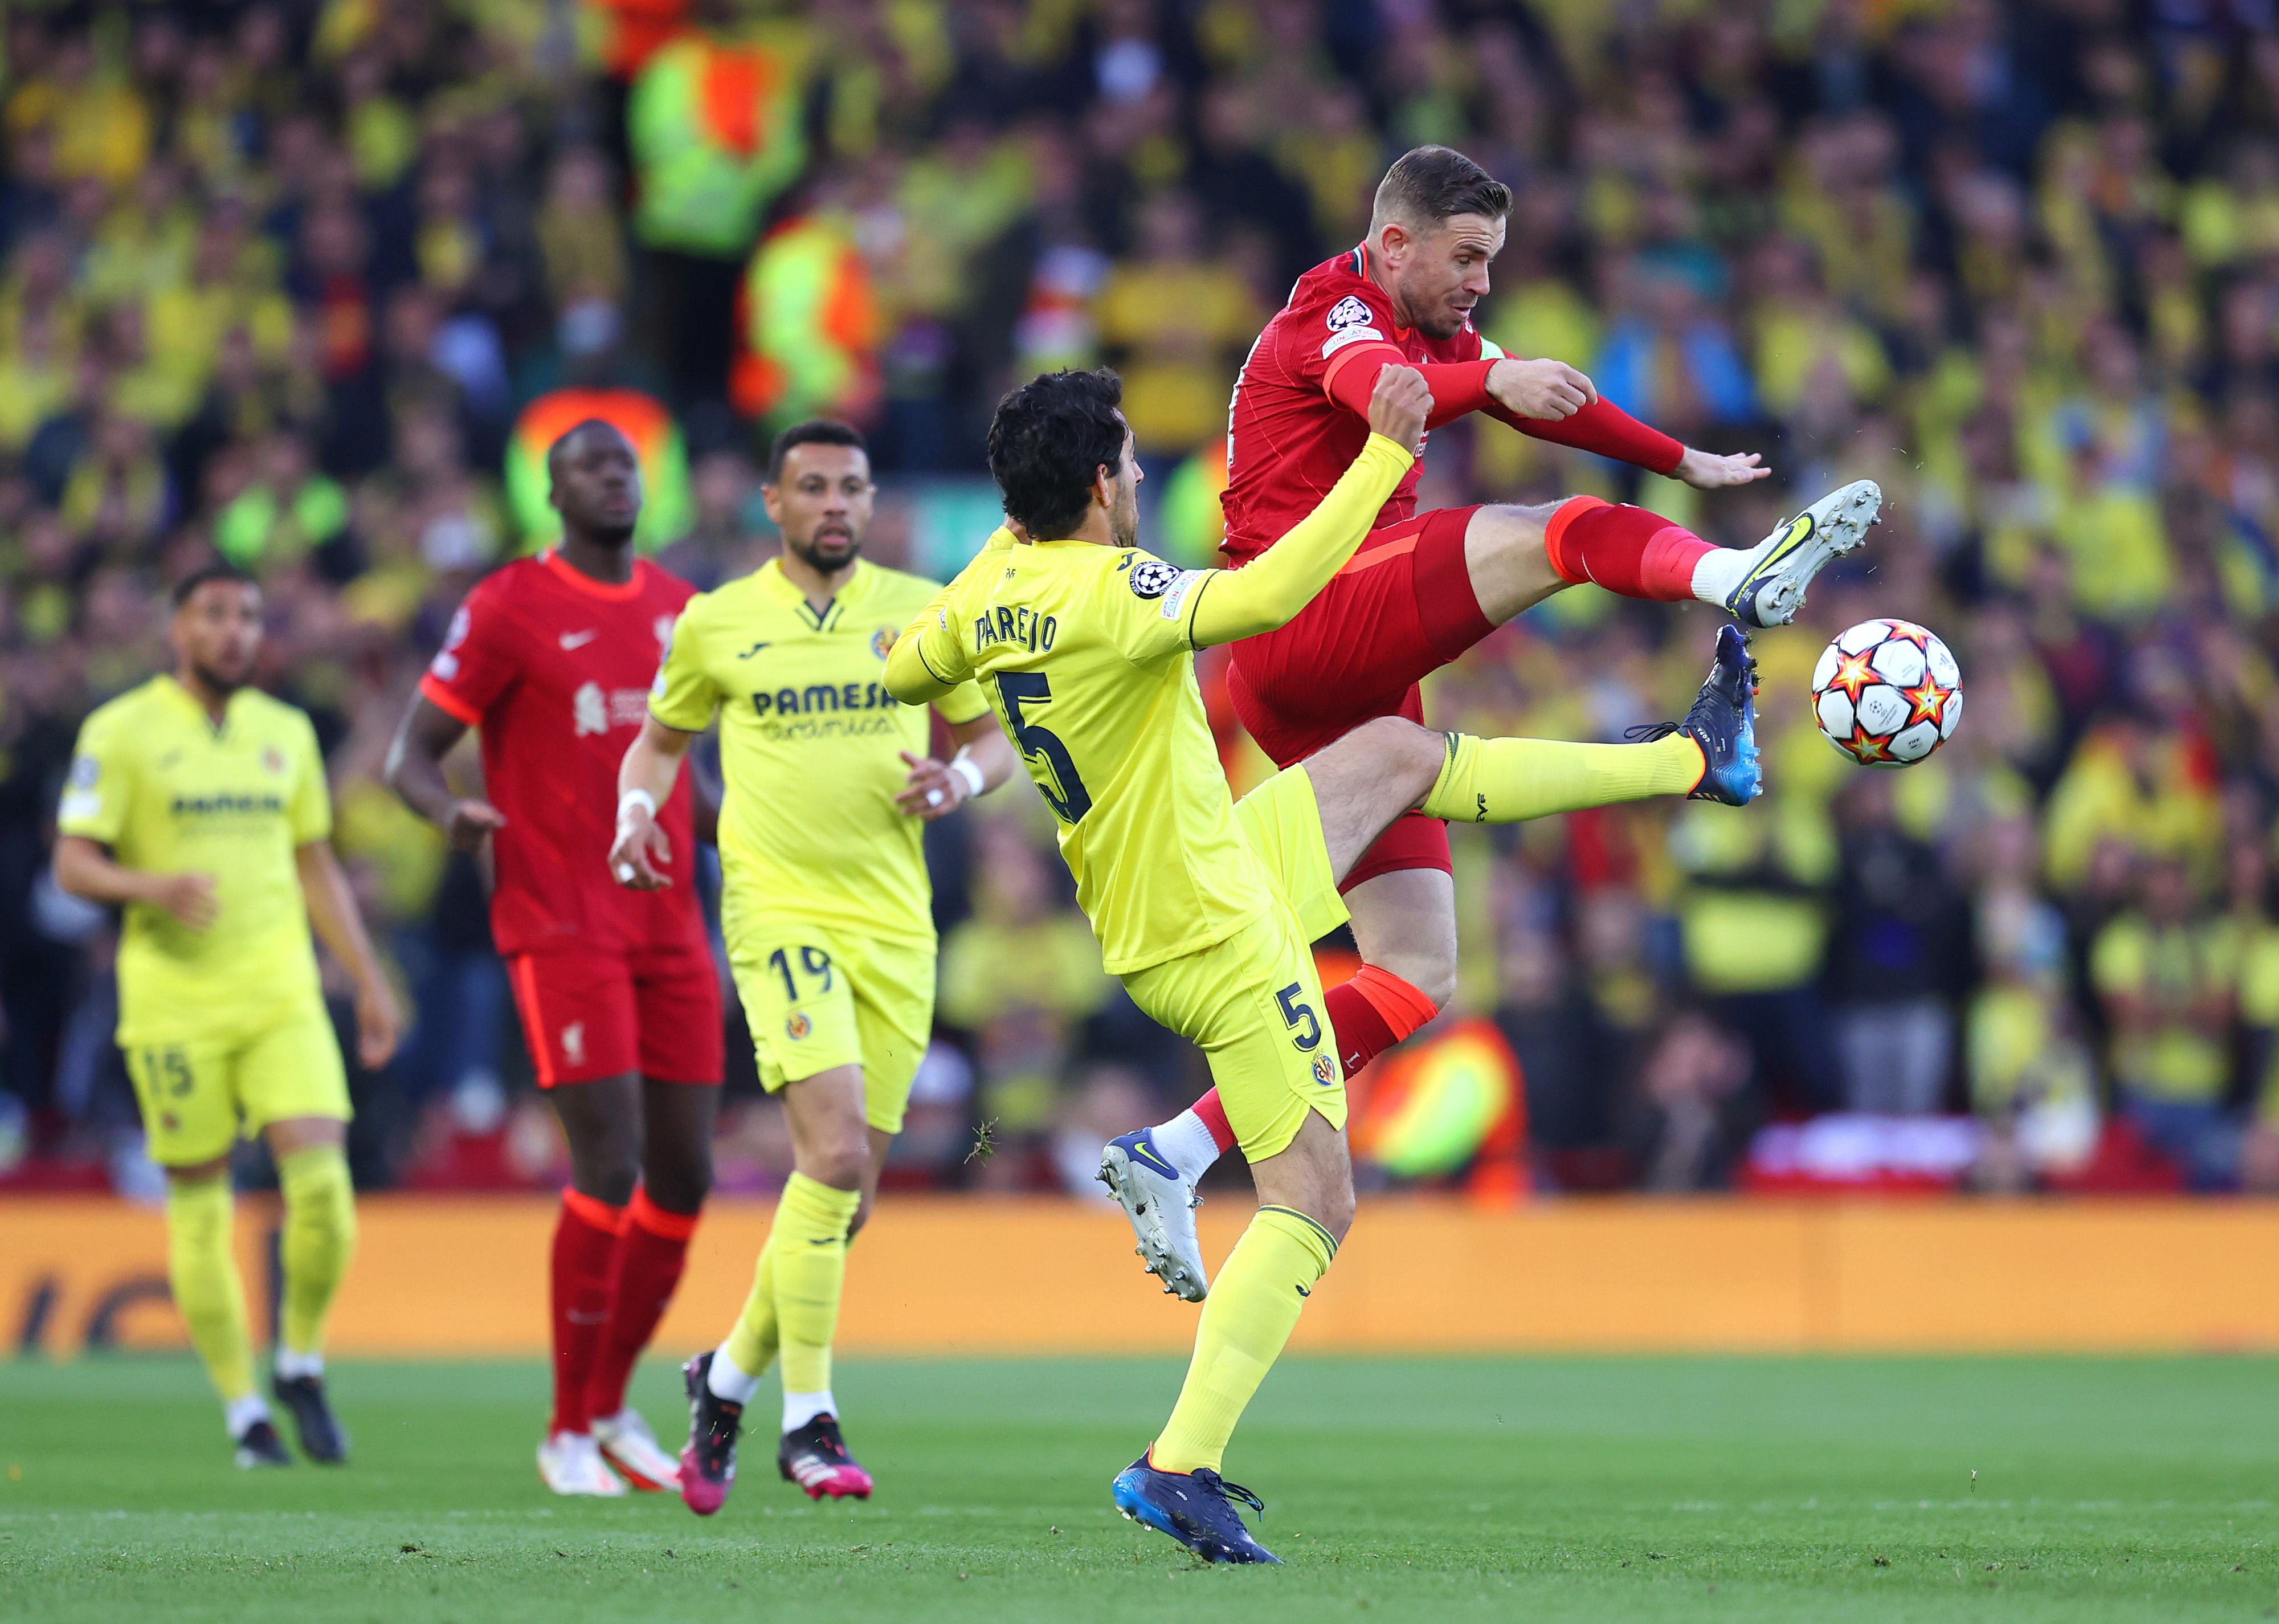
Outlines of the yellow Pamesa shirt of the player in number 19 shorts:
<svg viewBox="0 0 2279 1624">
<path fill-rule="evenodd" d="M 934 584 L 859 561 L 823 614 L 770 559 L 681 609 L 650 714 L 702 732 L 720 714 L 720 869 L 729 921 L 791 915 L 887 942 L 934 942 L 925 826 L 893 805 L 925 755 L 923 705 L 887 693 L 887 650 Z M 971 687 L 934 707 L 989 707 Z M 745 915 L 750 917 L 750 915 Z"/>
</svg>

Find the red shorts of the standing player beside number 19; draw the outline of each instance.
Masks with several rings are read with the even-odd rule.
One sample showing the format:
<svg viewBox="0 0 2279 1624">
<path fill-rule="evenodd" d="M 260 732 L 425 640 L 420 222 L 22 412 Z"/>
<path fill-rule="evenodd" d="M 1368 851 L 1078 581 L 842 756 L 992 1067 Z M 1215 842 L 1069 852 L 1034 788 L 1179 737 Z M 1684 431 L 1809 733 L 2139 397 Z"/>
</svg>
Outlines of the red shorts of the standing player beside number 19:
<svg viewBox="0 0 2279 1624">
<path fill-rule="evenodd" d="M 540 1088 L 638 1072 L 718 1083 L 727 1061 L 711 947 L 586 947 L 506 960 Z"/>
</svg>

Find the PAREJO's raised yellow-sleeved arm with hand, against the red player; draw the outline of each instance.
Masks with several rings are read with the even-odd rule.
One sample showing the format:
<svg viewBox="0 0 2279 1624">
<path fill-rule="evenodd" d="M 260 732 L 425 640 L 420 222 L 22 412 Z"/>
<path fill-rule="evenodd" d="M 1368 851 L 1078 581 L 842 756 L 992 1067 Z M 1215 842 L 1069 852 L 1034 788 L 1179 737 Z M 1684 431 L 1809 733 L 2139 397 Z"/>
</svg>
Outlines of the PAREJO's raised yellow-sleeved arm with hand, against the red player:
<svg viewBox="0 0 2279 1624">
<path fill-rule="evenodd" d="M 1386 365 L 1370 392 L 1370 440 L 1320 506 L 1242 570 L 1210 570 L 1190 591 L 1196 648 L 1235 643 L 1285 625 L 1370 534 L 1408 465 L 1431 415 L 1431 390 L 1415 367 Z"/>
</svg>

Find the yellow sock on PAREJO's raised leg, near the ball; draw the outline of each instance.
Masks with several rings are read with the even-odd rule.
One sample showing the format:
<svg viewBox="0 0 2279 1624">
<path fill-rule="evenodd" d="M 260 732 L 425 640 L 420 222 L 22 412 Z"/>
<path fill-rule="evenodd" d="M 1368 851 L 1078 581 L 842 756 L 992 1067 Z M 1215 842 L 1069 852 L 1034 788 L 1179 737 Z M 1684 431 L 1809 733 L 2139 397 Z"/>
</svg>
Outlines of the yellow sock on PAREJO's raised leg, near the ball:
<svg viewBox="0 0 2279 1624">
<path fill-rule="evenodd" d="M 1682 796 L 1702 780 L 1702 748 L 1682 732 L 1652 744 L 1447 737 L 1447 762 L 1429 817 L 1449 823 L 1522 823 L 1616 801 Z"/>
</svg>

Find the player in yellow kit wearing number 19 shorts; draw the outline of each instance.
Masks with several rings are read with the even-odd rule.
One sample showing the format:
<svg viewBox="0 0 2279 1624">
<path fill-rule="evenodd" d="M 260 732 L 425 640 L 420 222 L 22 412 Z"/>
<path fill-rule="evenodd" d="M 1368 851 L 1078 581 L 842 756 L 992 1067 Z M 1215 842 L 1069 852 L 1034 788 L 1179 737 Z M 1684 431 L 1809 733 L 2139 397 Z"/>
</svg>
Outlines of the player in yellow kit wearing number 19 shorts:
<svg viewBox="0 0 2279 1624">
<path fill-rule="evenodd" d="M 887 693 L 887 650 L 934 584 L 861 557 L 875 495 L 861 436 L 827 420 L 784 429 L 763 495 L 784 552 L 681 611 L 618 773 L 611 851 L 622 885 L 665 883 L 675 853 L 654 807 L 718 716 L 720 928 L 759 1079 L 784 1102 L 793 1175 L 736 1327 L 686 1369 L 681 1499 L 706 1517 L 736 1478 L 743 1407 L 777 1353 L 777 1469 L 814 1499 L 871 1494 L 839 1428 L 832 1337 L 848 1239 L 934 1029 L 923 821 L 1014 771 L 971 684 L 932 696 L 957 746 L 948 762 L 928 755 L 930 714 Z"/>
</svg>

